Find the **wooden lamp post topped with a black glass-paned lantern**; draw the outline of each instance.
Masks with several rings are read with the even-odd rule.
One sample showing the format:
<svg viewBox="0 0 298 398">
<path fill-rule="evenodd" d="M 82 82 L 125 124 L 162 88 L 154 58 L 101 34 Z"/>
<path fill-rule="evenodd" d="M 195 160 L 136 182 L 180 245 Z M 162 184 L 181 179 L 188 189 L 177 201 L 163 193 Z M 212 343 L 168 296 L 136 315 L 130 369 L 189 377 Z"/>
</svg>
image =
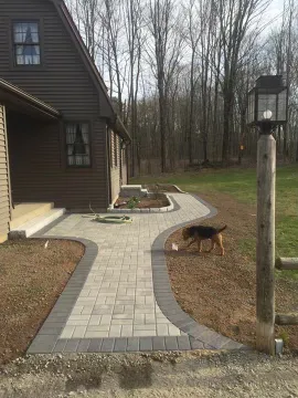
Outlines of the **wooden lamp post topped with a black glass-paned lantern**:
<svg viewBox="0 0 298 398">
<path fill-rule="evenodd" d="M 275 354 L 275 180 L 273 129 L 287 122 L 283 76 L 260 76 L 248 93 L 247 122 L 259 128 L 257 143 L 256 347 Z"/>
</svg>

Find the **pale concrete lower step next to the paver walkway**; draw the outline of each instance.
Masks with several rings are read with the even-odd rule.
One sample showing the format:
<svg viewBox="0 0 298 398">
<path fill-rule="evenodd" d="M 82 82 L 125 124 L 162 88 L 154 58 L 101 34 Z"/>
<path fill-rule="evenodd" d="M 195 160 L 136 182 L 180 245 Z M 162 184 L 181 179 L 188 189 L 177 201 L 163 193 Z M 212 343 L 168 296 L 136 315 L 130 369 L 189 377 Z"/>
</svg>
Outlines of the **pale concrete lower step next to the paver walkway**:
<svg viewBox="0 0 298 398">
<path fill-rule="evenodd" d="M 9 232 L 9 239 L 20 239 L 29 238 L 33 233 L 36 233 L 44 227 L 49 226 L 51 222 L 58 219 L 65 213 L 65 209 L 51 209 L 46 213 L 34 217 L 32 220 L 19 226 L 15 229 L 12 229 Z"/>
</svg>

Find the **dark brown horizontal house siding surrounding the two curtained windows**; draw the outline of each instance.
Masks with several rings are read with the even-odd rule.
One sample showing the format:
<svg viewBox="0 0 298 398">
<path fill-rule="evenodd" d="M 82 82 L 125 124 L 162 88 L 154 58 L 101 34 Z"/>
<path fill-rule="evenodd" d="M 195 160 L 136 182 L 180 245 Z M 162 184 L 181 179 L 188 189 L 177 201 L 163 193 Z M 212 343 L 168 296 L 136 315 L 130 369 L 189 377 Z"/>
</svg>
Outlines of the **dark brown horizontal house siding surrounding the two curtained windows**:
<svg viewBox="0 0 298 398">
<path fill-rule="evenodd" d="M 58 109 L 64 121 L 89 122 L 93 126 L 89 169 L 66 168 L 58 124 L 39 127 L 39 134 L 30 129 L 24 133 L 23 128 L 20 132 L 18 126 L 10 132 L 9 126 L 9 139 L 13 136 L 15 151 L 13 155 L 11 150 L 14 200 L 55 199 L 55 206 L 79 209 L 92 199 L 95 208 L 106 209 L 106 124 L 99 118 L 98 92 L 61 17 L 50 1 L 42 0 L 0 0 L 0 76 Z M 41 69 L 11 65 L 11 20 L 22 18 L 41 20 L 44 62 Z M 28 151 L 19 160 L 20 140 Z"/>
</svg>

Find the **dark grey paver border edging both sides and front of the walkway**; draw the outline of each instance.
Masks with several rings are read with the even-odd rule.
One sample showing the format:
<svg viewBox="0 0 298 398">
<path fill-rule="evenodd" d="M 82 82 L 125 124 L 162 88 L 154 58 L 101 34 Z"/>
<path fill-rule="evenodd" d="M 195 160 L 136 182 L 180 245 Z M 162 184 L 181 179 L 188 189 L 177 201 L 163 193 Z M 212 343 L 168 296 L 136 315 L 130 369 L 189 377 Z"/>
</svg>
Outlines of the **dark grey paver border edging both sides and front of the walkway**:
<svg viewBox="0 0 298 398">
<path fill-rule="evenodd" d="M 190 193 L 188 193 L 190 195 Z M 157 303 L 167 318 L 187 336 L 152 336 L 152 337 L 115 337 L 115 338 L 58 338 L 97 256 L 98 247 L 95 242 L 74 237 L 46 235 L 52 228 L 70 217 L 64 214 L 31 238 L 72 240 L 85 245 L 85 254 L 78 262 L 73 275 L 56 301 L 50 315 L 28 348 L 28 354 L 51 353 L 129 353 L 152 350 L 190 350 L 190 349 L 244 349 L 244 345 L 226 338 L 214 331 L 198 324 L 177 303 L 169 280 L 164 243 L 169 235 L 179 228 L 192 222 L 214 217 L 217 211 L 198 196 L 196 200 L 210 209 L 210 213 L 196 220 L 182 222 L 163 231 L 155 240 L 151 248 L 151 265 L 153 291 Z M 180 206 L 171 198 L 177 211 Z M 164 212 L 166 213 L 166 212 Z"/>
</svg>

